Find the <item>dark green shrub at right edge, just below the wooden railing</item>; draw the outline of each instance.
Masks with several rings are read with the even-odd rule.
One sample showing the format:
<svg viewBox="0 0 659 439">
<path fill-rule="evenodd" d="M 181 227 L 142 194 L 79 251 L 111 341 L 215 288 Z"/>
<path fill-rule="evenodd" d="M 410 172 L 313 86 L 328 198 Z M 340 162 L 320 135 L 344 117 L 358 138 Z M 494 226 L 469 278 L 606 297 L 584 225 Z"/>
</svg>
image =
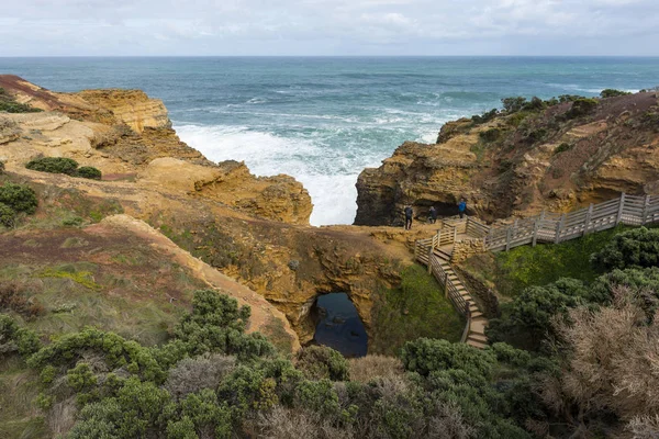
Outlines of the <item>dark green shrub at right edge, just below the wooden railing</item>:
<svg viewBox="0 0 659 439">
<path fill-rule="evenodd" d="M 602 271 L 659 266 L 659 229 L 645 227 L 623 232 L 600 251 L 591 262 Z"/>
</svg>

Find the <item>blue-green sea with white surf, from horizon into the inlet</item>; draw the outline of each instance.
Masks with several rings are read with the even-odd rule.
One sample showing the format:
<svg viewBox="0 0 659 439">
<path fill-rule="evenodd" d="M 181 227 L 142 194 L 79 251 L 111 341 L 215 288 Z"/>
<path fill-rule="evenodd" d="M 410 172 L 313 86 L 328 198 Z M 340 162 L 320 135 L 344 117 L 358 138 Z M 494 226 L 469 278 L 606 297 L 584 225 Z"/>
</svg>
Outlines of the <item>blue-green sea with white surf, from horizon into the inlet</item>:
<svg viewBox="0 0 659 439">
<path fill-rule="evenodd" d="M 136 88 L 165 101 L 182 140 L 309 189 L 311 222 L 349 224 L 355 182 L 404 140 L 509 95 L 595 95 L 659 85 L 659 58 L 0 58 L 0 74 L 57 91 Z"/>
</svg>

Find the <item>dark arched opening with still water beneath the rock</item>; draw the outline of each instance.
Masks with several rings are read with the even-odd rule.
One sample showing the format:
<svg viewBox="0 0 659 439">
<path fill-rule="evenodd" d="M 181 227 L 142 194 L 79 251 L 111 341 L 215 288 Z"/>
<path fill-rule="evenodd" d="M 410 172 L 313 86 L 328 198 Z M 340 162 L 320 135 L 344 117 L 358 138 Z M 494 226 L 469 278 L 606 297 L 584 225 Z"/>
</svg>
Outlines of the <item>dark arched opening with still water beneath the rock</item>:
<svg viewBox="0 0 659 439">
<path fill-rule="evenodd" d="M 328 293 L 312 307 L 316 327 L 313 344 L 327 346 L 346 358 L 366 356 L 368 335 L 357 308 L 346 293 Z"/>
</svg>

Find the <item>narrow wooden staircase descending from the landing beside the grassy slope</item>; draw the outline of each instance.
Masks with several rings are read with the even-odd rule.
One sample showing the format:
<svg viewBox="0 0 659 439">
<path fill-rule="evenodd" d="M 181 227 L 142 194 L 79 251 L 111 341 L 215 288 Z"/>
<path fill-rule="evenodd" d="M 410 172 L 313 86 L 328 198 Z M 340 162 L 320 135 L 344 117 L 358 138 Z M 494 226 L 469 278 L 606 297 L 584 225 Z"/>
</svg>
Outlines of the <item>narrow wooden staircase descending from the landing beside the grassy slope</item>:
<svg viewBox="0 0 659 439">
<path fill-rule="evenodd" d="M 467 317 L 468 326 L 465 328 L 462 341 L 474 348 L 483 349 L 488 346 L 488 337 L 485 336 L 488 319 L 484 317 L 483 313 L 471 297 L 471 294 L 469 294 L 469 291 L 450 266 L 451 252 L 453 245 L 434 249 L 433 256 L 437 258 L 439 266 L 446 273 L 447 283 L 454 285 L 457 293 L 469 304 L 469 316 Z"/>
</svg>

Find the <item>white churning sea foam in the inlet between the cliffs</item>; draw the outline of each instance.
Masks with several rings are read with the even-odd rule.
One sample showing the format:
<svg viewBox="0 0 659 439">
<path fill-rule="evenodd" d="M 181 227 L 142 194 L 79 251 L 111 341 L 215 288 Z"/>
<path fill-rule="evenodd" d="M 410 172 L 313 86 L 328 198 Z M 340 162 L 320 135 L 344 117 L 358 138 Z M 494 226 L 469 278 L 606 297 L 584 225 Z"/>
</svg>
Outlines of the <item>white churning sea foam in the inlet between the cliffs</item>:
<svg viewBox="0 0 659 439">
<path fill-rule="evenodd" d="M 313 138 L 283 138 L 270 133 L 235 126 L 175 126 L 188 145 L 209 159 L 243 160 L 253 173 L 272 176 L 287 173 L 309 190 L 314 203 L 312 225 L 351 224 L 357 209 L 355 182 L 361 171 L 350 151 L 337 154 L 323 148 Z M 378 166 L 376 156 L 357 160 L 365 166 Z"/>
</svg>

